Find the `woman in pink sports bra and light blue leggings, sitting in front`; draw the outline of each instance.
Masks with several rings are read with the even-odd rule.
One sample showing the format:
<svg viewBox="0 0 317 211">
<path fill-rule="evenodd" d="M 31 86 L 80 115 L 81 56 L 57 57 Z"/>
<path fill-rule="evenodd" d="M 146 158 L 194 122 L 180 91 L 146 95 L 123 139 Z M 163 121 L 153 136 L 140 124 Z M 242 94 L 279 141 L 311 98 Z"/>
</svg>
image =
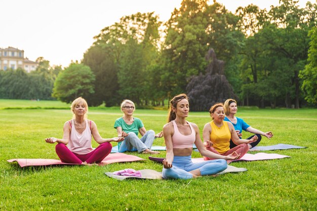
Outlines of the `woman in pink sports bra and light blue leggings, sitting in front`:
<svg viewBox="0 0 317 211">
<path fill-rule="evenodd" d="M 179 94 L 170 101 L 168 122 L 163 127 L 166 144 L 166 159 L 163 161 L 165 179 L 191 179 L 203 175 L 213 175 L 227 168 L 225 160 L 239 157 L 235 151 L 227 156 L 216 154 L 205 149 L 196 124 L 186 121 L 189 103 L 186 94 Z M 191 162 L 192 145 L 195 144 L 203 156 L 217 160 L 200 163 Z"/>
</svg>

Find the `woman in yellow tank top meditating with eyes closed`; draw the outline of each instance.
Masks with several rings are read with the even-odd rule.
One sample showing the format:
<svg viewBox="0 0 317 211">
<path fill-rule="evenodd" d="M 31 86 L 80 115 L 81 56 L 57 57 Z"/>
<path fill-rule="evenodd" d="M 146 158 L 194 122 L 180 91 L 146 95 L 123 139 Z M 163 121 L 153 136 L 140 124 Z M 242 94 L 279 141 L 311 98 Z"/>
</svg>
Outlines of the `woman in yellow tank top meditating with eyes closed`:
<svg viewBox="0 0 317 211">
<path fill-rule="evenodd" d="M 253 136 L 251 139 L 240 139 L 232 123 L 223 121 L 225 114 L 222 103 L 214 104 L 210 108 L 209 113 L 213 121 L 207 123 L 203 130 L 204 146 L 209 151 L 221 155 L 236 151 L 242 157 L 249 150 L 248 143 L 258 139 L 257 136 Z M 229 147 L 230 139 L 237 145 L 232 149 Z M 212 158 L 204 157 L 204 160 L 212 160 Z"/>
</svg>

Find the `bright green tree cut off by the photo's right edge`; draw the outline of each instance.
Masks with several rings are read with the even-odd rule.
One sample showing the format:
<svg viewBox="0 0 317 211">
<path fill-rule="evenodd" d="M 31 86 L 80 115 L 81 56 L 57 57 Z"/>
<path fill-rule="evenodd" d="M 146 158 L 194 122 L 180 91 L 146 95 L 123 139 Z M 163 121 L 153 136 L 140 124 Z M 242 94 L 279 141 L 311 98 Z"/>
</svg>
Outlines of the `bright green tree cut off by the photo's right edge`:
<svg viewBox="0 0 317 211">
<path fill-rule="evenodd" d="M 300 71 L 300 78 L 303 80 L 302 89 L 305 92 L 307 102 L 317 104 L 317 27 L 312 28 L 308 50 L 308 64 Z"/>
</svg>

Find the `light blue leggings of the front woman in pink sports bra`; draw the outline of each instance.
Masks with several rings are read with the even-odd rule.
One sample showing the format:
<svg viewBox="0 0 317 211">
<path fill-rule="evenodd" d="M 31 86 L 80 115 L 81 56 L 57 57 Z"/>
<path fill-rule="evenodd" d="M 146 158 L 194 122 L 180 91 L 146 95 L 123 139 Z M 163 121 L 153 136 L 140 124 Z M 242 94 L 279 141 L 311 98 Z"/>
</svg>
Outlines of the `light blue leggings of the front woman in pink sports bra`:
<svg viewBox="0 0 317 211">
<path fill-rule="evenodd" d="M 190 171 L 199 169 L 201 175 L 212 175 L 224 171 L 227 168 L 227 162 L 223 159 L 203 161 L 192 163 L 191 156 L 174 156 L 170 169 L 163 168 L 164 179 L 191 179 Z"/>
</svg>

